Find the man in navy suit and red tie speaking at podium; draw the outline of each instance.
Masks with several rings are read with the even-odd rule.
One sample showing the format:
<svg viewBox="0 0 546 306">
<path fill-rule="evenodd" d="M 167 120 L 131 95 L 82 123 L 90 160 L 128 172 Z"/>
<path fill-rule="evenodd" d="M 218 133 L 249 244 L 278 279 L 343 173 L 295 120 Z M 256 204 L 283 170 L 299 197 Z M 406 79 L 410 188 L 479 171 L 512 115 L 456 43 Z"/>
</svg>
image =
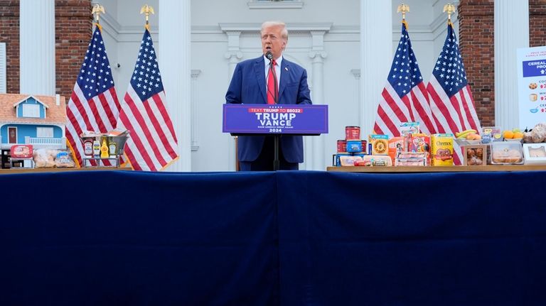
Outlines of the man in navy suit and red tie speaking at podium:
<svg viewBox="0 0 546 306">
<path fill-rule="evenodd" d="M 311 104 L 306 70 L 282 57 L 288 40 L 286 25 L 278 21 L 267 21 L 262 23 L 260 33 L 263 55 L 237 64 L 225 94 L 226 103 Z M 270 69 L 272 66 L 274 71 Z M 267 82 L 270 75 L 277 78 L 277 82 L 270 85 L 272 87 L 268 87 Z M 277 84 L 276 92 L 274 86 Z M 273 136 L 240 136 L 237 158 L 242 171 L 273 170 Z M 304 161 L 301 136 L 280 138 L 279 161 L 281 170 L 298 170 L 298 163 Z"/>
</svg>

